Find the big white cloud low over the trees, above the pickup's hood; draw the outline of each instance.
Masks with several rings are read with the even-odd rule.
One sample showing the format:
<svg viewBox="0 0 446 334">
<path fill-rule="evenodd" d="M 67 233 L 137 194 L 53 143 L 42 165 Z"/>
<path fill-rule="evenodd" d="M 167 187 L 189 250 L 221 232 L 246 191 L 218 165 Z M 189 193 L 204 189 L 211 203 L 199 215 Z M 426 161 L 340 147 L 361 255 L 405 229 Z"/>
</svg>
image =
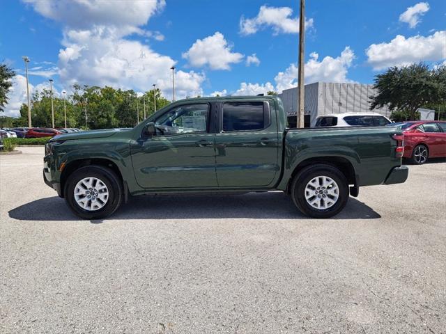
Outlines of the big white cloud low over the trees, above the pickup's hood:
<svg viewBox="0 0 446 334">
<path fill-rule="evenodd" d="M 68 31 L 65 49 L 59 52 L 61 81 L 119 88 L 151 89 L 157 84 L 164 95 L 171 96 L 171 70 L 175 61 L 157 54 L 138 41 L 117 38 L 113 30 L 95 27 L 86 31 Z M 176 72 L 176 95 L 201 94 L 204 74 Z"/>
</svg>

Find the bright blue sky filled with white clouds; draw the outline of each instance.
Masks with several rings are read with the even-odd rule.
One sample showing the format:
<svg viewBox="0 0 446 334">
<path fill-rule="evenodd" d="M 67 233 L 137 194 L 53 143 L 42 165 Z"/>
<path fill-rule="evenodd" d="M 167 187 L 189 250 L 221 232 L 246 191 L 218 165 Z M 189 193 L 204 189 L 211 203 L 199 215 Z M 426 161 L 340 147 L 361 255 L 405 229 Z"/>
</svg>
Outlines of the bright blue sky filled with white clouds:
<svg viewBox="0 0 446 334">
<path fill-rule="evenodd" d="M 298 1 L 3 1 L 0 60 L 17 71 L 8 115 L 31 90 L 74 83 L 171 97 L 295 86 Z M 307 0 L 305 71 L 313 81 L 369 84 L 388 66 L 446 58 L 446 1 Z M 25 97 L 26 98 L 26 97 Z"/>
</svg>

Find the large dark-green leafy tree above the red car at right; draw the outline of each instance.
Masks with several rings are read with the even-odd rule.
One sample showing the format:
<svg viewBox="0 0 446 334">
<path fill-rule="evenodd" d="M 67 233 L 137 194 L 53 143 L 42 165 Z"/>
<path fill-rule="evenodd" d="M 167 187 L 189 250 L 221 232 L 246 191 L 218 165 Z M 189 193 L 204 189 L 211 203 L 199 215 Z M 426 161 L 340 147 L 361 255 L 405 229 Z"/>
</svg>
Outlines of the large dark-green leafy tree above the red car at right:
<svg viewBox="0 0 446 334">
<path fill-rule="evenodd" d="M 446 66 L 432 70 L 424 63 L 390 67 L 376 75 L 374 88 L 377 93 L 370 97 L 370 110 L 387 105 L 399 118 L 415 120 L 418 108 L 445 102 Z"/>
</svg>

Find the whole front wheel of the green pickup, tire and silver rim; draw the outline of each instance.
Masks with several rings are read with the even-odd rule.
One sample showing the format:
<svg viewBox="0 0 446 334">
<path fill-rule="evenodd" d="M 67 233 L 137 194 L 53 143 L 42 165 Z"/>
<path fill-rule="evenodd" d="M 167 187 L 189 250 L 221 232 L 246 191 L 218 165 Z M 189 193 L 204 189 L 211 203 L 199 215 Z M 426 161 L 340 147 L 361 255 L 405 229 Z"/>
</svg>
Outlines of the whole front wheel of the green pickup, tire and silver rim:
<svg viewBox="0 0 446 334">
<path fill-rule="evenodd" d="M 94 165 L 75 170 L 64 193 L 72 212 L 89 220 L 113 214 L 123 200 L 121 180 L 109 168 Z"/>
</svg>

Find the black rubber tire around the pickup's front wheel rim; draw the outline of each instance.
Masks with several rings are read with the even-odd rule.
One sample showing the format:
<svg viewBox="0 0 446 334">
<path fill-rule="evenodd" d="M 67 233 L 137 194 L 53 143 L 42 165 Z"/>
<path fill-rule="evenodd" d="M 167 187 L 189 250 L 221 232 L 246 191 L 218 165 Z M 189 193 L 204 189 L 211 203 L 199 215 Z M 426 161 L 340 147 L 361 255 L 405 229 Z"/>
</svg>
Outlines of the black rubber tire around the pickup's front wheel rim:
<svg viewBox="0 0 446 334">
<path fill-rule="evenodd" d="M 105 205 L 95 211 L 82 208 L 75 200 L 75 186 L 86 177 L 95 177 L 102 181 L 108 190 Z M 113 170 L 103 166 L 85 166 L 75 170 L 69 177 L 64 189 L 65 199 L 71 211 L 80 218 L 94 220 L 113 214 L 123 201 L 123 186 Z"/>
</svg>

